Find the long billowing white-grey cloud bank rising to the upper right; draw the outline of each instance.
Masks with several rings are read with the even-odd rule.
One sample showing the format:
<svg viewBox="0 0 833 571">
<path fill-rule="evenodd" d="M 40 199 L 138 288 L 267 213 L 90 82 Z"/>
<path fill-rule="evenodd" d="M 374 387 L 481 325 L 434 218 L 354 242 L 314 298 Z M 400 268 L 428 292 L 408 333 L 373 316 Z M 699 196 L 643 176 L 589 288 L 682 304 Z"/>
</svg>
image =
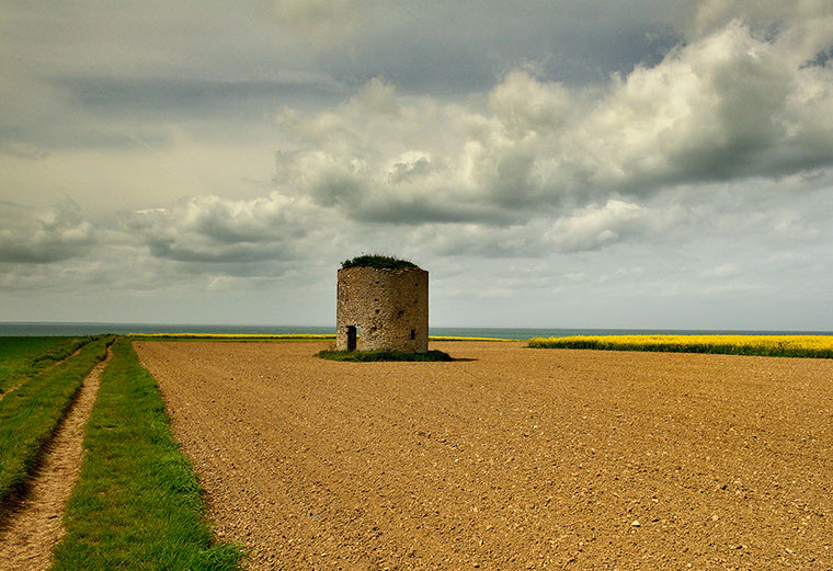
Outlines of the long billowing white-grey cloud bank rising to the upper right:
<svg viewBox="0 0 833 571">
<path fill-rule="evenodd" d="M 276 181 L 358 220 L 511 225 L 681 184 L 830 168 L 833 68 L 803 66 L 810 54 L 788 36 L 732 21 L 601 91 L 515 70 L 486 105 L 374 79 L 334 110 L 278 116 L 294 147 L 278 153 Z"/>
</svg>

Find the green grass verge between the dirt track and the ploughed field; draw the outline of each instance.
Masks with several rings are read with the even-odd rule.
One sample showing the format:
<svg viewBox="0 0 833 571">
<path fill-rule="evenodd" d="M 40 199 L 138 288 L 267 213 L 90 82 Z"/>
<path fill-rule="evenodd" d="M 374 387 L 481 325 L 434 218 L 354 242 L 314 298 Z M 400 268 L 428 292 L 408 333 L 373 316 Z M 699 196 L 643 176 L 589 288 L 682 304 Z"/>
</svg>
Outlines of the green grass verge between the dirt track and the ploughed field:
<svg viewBox="0 0 833 571">
<path fill-rule="evenodd" d="M 239 568 L 240 549 L 213 543 L 158 385 L 125 338 L 102 374 L 84 448 L 54 570 Z"/>
</svg>

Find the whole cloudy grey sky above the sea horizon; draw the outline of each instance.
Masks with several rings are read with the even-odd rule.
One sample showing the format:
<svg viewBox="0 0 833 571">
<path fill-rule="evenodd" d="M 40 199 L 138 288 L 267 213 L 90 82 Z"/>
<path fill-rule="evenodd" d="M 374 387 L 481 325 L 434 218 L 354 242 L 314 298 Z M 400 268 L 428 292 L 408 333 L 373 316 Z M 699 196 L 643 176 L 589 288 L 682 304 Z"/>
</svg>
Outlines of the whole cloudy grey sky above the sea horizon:
<svg viewBox="0 0 833 571">
<path fill-rule="evenodd" d="M 0 0 L 0 321 L 833 330 L 830 0 Z"/>
</svg>

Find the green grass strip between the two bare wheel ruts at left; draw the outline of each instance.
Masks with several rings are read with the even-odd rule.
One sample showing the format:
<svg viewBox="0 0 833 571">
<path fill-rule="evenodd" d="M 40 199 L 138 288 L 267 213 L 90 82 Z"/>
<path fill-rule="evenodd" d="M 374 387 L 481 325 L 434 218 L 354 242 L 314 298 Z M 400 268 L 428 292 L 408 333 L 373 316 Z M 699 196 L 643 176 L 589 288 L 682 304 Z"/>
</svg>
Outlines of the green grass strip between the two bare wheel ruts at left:
<svg viewBox="0 0 833 571">
<path fill-rule="evenodd" d="M 26 381 L 0 401 L 0 509 L 28 478 L 84 377 L 106 355 L 110 338 Z"/>
</svg>

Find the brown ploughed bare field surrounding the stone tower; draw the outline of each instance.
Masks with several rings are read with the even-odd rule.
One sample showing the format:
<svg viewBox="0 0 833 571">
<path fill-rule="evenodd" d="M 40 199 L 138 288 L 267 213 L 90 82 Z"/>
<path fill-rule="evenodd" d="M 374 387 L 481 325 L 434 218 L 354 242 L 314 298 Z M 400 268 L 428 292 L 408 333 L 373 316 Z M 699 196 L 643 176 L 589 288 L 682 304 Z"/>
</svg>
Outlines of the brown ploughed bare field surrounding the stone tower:
<svg viewBox="0 0 833 571">
<path fill-rule="evenodd" d="M 250 569 L 833 569 L 833 361 L 134 345 Z"/>
</svg>

